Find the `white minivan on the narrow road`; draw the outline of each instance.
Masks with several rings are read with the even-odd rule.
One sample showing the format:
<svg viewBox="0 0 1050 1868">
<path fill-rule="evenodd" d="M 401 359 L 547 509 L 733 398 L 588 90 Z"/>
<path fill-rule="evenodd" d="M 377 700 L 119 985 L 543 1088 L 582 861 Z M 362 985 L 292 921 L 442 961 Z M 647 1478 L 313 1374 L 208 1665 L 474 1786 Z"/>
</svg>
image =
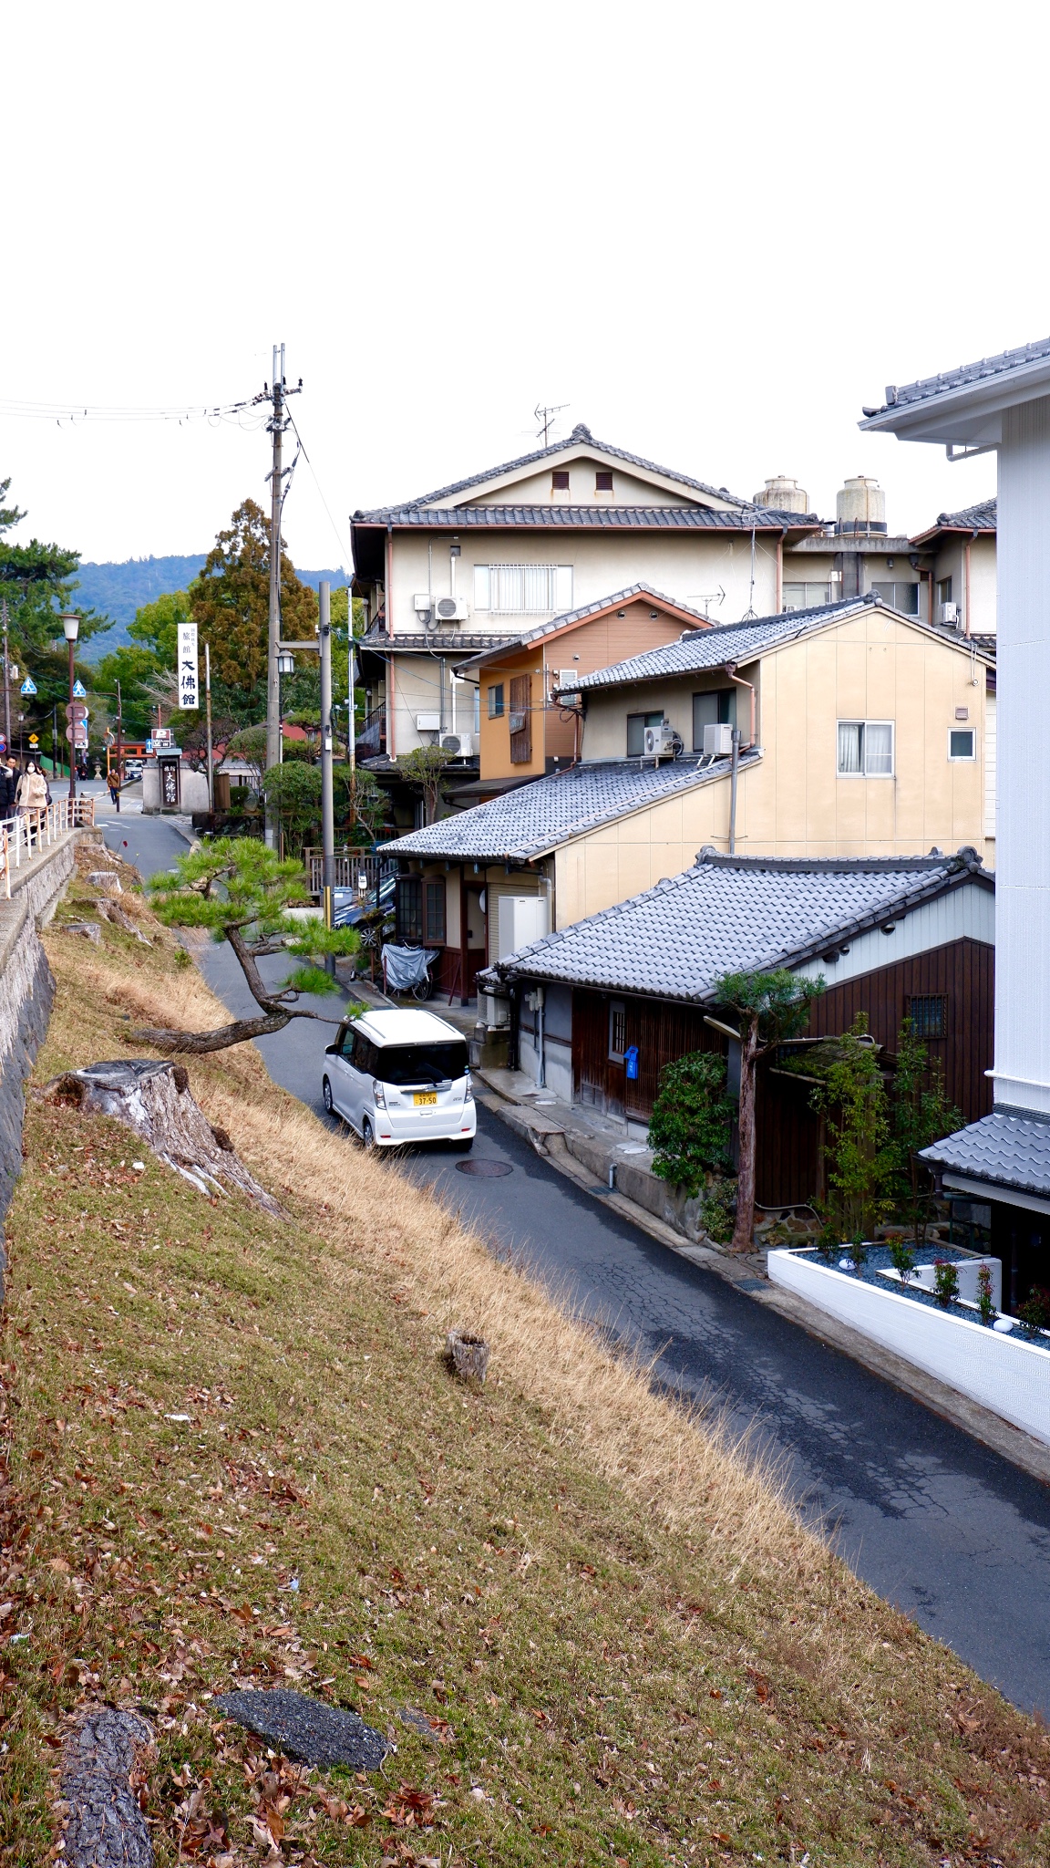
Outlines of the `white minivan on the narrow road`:
<svg viewBox="0 0 1050 1868">
<path fill-rule="evenodd" d="M 405 1141 L 473 1145 L 478 1113 L 467 1040 L 433 1012 L 364 1012 L 325 1048 L 321 1097 L 366 1149 Z"/>
</svg>

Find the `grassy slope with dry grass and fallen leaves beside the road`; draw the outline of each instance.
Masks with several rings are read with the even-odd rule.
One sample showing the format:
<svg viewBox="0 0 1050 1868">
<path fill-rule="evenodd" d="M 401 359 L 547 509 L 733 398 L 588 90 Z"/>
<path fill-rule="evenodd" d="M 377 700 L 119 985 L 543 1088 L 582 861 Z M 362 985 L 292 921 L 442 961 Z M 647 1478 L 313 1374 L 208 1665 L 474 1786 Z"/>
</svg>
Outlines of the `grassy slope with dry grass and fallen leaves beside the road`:
<svg viewBox="0 0 1050 1868">
<path fill-rule="evenodd" d="M 135 912 L 151 949 L 49 936 L 39 1080 L 120 1055 L 129 1020 L 217 1022 Z M 256 1052 L 191 1076 L 291 1225 L 135 1173 L 114 1123 L 28 1119 L 2 1861 L 56 1847 L 54 1743 L 99 1696 L 153 1707 L 159 1862 L 1048 1859 L 1044 1730 L 858 1584 L 770 1474 Z M 493 1345 L 484 1392 L 445 1369 L 452 1323 Z M 342 1784 L 267 1760 L 211 1711 L 232 1681 L 353 1704 L 398 1754 Z"/>
</svg>

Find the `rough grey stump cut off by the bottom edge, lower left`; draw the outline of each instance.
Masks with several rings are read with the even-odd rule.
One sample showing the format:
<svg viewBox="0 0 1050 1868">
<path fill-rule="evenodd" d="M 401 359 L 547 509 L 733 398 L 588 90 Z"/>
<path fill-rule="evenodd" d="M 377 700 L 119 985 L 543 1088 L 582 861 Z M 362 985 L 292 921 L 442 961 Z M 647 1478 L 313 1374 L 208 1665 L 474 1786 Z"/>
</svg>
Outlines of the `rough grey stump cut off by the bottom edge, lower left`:
<svg viewBox="0 0 1050 1868">
<path fill-rule="evenodd" d="M 153 1730 L 138 1713 L 90 1707 L 65 1741 L 60 1861 L 71 1868 L 153 1868 L 153 1844 L 138 1808 Z"/>
</svg>

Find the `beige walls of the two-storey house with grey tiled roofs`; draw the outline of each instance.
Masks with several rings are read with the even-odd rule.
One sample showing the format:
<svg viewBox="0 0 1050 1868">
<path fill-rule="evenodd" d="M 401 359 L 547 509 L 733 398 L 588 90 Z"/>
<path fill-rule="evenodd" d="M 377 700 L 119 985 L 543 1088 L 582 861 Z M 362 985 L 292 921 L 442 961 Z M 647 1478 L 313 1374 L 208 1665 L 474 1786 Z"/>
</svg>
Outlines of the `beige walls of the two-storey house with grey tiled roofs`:
<svg viewBox="0 0 1050 1868">
<path fill-rule="evenodd" d="M 753 674 L 755 671 L 744 671 Z M 873 611 L 764 658 L 759 671 L 762 760 L 740 773 L 742 856 L 925 856 L 973 844 L 985 854 L 985 667 Z M 725 678 L 714 676 L 710 686 Z M 592 697 L 585 757 L 620 757 L 624 715 L 663 706 L 691 740 L 701 682 L 643 684 Z M 968 710 L 977 758 L 951 762 L 947 734 Z M 742 715 L 744 717 L 744 715 Z M 837 775 L 837 721 L 891 719 L 895 775 Z M 598 729 L 594 732 L 594 729 Z M 613 747 L 615 742 L 615 747 Z M 602 747 L 607 747 L 602 751 Z M 729 846 L 729 777 L 602 826 L 557 852 L 557 925 L 596 913 L 674 876 L 697 850 Z"/>
</svg>

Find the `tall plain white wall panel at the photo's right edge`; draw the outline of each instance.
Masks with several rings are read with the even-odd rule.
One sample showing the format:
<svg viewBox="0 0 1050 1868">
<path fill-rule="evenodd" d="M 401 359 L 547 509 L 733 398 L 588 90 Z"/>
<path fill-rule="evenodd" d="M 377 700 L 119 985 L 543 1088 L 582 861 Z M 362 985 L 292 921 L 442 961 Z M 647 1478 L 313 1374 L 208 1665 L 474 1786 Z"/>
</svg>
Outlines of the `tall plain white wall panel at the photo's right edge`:
<svg viewBox="0 0 1050 1868">
<path fill-rule="evenodd" d="M 1050 1115 L 1050 398 L 1003 415 L 996 1104 Z"/>
</svg>

